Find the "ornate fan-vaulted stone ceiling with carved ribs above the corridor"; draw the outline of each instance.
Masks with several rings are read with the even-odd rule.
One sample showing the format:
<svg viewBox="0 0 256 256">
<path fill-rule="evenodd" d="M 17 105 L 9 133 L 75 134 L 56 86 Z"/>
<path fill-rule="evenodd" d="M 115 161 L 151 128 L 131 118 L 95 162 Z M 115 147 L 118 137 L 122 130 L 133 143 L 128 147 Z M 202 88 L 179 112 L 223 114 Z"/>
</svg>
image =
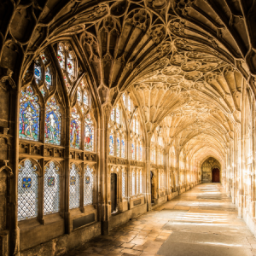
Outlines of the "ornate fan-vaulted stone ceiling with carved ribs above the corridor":
<svg viewBox="0 0 256 256">
<path fill-rule="evenodd" d="M 243 84 L 254 92 L 254 5 L 2 1 L 0 13 L 9 11 L 0 15 L 1 65 L 19 70 L 18 79 L 45 46 L 72 37 L 102 108 L 128 90 L 149 138 L 160 127 L 167 144 L 191 157 L 221 159 L 240 129 Z"/>
</svg>

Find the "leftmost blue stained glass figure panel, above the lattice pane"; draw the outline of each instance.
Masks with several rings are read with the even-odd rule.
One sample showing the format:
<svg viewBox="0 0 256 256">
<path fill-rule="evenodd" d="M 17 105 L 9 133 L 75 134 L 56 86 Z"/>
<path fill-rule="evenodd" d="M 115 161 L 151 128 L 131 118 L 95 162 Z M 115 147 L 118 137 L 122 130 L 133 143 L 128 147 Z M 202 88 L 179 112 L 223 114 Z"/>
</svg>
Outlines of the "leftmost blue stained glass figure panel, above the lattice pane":
<svg viewBox="0 0 256 256">
<path fill-rule="evenodd" d="M 39 137 L 39 105 L 31 86 L 21 90 L 20 96 L 20 131 L 19 137 L 38 141 Z"/>
</svg>

